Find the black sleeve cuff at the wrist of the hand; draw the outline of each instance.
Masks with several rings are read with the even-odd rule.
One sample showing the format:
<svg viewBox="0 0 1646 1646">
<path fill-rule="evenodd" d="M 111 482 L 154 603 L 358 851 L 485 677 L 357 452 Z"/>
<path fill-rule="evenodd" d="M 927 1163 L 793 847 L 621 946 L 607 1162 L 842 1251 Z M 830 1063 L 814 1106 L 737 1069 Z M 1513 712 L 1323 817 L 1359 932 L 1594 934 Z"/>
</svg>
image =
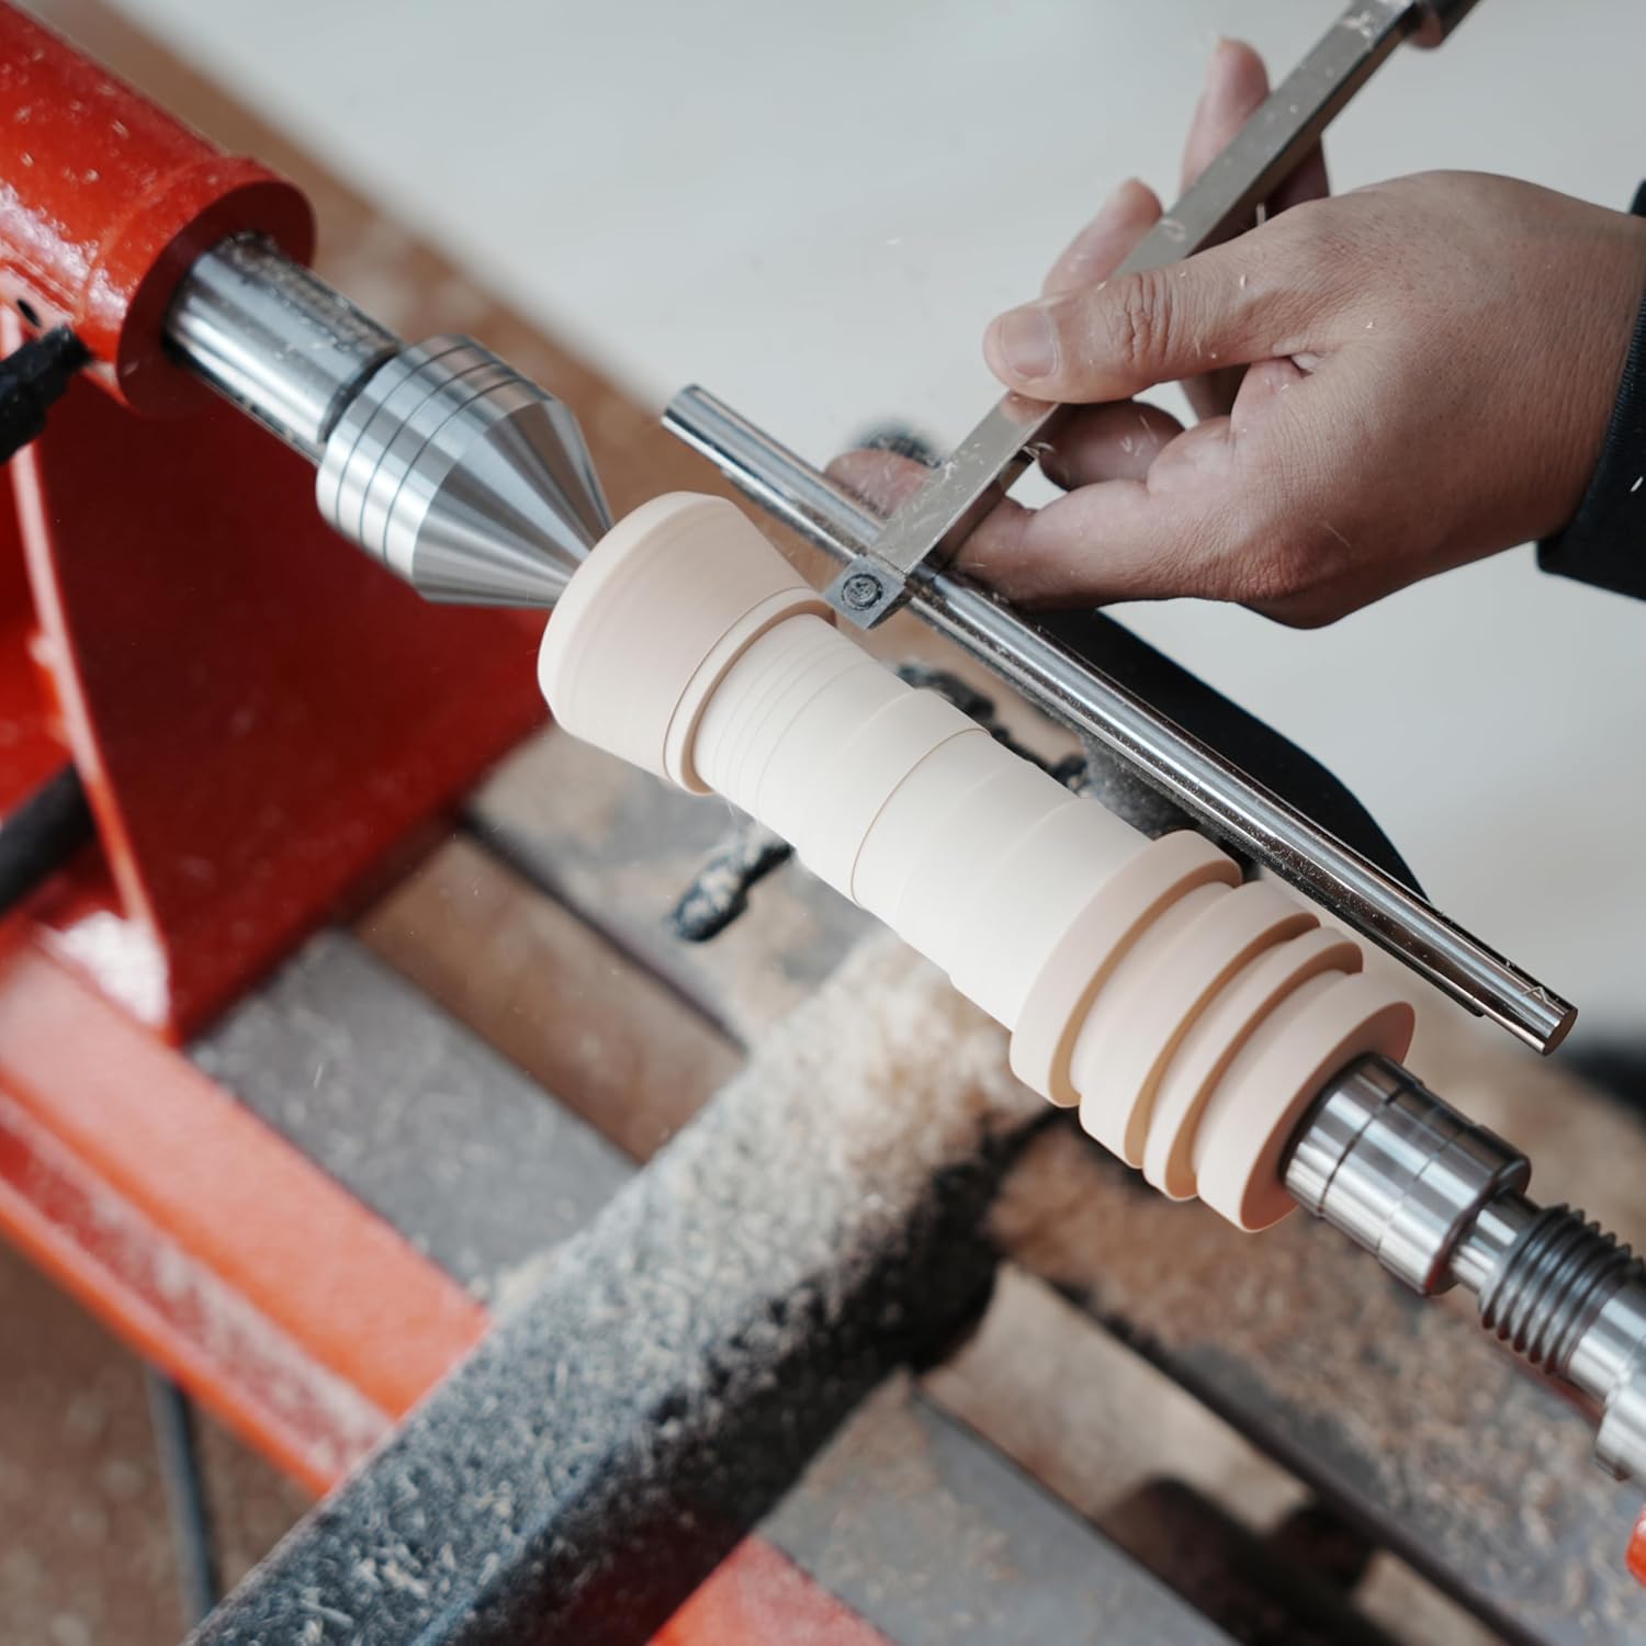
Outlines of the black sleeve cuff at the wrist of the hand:
<svg viewBox="0 0 1646 1646">
<path fill-rule="evenodd" d="M 1646 183 L 1630 211 L 1646 216 Z M 1646 305 L 1634 323 L 1595 476 L 1572 523 L 1537 545 L 1537 565 L 1562 578 L 1646 599 Z"/>
</svg>

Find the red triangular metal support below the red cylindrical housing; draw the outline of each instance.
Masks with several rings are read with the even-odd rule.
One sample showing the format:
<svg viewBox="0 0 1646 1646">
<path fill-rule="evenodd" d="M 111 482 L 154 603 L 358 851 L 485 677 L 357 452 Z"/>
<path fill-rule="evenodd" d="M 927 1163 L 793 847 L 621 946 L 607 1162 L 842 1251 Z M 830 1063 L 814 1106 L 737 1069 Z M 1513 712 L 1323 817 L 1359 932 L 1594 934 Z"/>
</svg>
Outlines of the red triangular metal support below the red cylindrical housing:
<svg viewBox="0 0 1646 1646">
<path fill-rule="evenodd" d="M 151 421 L 76 384 L 12 472 L 0 807 L 72 756 L 107 874 L 35 912 L 184 1035 L 542 721 L 537 625 L 426 606 L 229 407 Z"/>
</svg>

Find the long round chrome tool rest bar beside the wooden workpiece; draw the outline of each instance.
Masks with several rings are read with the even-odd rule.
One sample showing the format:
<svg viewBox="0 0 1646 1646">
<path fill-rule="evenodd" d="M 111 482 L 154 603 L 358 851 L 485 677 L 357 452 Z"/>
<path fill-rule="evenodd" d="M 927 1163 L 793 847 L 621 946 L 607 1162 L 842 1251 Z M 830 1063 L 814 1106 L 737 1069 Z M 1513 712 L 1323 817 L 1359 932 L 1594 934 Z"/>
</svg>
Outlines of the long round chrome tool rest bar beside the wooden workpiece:
<svg viewBox="0 0 1646 1646">
<path fill-rule="evenodd" d="M 703 388 L 677 395 L 663 421 L 762 509 L 848 565 L 877 532 L 877 515 Z M 912 584 L 910 609 L 1045 713 L 1119 754 L 1208 833 L 1470 1011 L 1539 1052 L 1564 1039 L 1577 1016 L 1570 1004 L 1009 606 L 933 571 Z"/>
</svg>

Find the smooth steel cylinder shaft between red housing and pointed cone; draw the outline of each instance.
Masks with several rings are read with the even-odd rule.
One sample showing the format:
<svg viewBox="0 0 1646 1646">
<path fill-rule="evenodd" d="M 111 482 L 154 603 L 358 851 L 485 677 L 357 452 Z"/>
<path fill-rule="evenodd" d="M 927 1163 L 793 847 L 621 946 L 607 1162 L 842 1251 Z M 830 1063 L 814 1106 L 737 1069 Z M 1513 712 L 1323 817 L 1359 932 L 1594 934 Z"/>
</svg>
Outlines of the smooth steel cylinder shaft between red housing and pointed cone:
<svg viewBox="0 0 1646 1646">
<path fill-rule="evenodd" d="M 166 341 L 242 412 L 318 463 L 344 405 L 400 339 L 268 240 L 237 237 L 194 262 Z"/>
</svg>

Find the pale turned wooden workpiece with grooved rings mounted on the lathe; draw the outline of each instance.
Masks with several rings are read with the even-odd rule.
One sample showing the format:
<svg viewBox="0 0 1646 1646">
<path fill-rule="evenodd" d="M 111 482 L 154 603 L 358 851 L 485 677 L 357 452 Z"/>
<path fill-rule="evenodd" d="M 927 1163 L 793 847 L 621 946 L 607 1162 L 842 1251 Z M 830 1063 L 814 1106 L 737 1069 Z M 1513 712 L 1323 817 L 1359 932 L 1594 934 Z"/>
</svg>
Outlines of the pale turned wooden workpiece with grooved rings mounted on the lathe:
<svg viewBox="0 0 1646 1646">
<path fill-rule="evenodd" d="M 1012 1034 L 1012 1068 L 1174 1198 L 1282 1218 L 1286 1142 L 1414 1014 L 1193 833 L 1149 839 L 918 691 L 729 502 L 622 520 L 543 639 L 560 724 L 788 839 Z"/>
</svg>

